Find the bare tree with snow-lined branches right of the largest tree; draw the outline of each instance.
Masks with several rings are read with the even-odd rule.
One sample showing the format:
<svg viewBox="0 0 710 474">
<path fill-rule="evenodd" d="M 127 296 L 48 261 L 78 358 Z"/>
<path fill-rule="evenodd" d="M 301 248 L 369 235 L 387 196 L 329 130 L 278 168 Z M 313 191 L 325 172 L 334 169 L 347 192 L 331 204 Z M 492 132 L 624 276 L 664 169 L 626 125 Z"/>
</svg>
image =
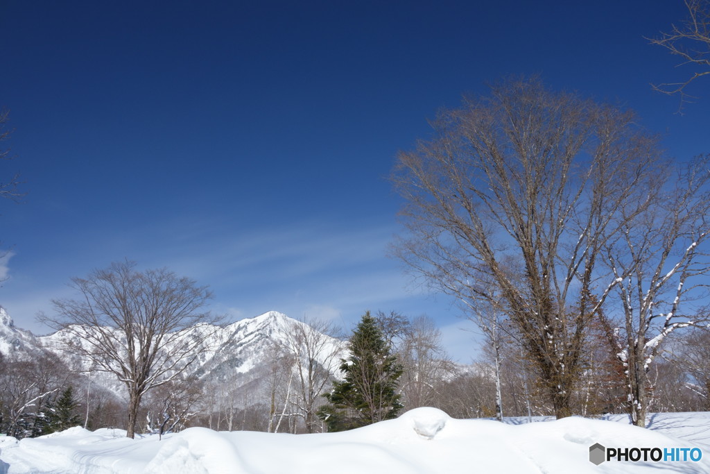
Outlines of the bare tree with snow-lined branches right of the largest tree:
<svg viewBox="0 0 710 474">
<path fill-rule="evenodd" d="M 707 320 L 710 274 L 710 155 L 688 163 L 652 191 L 652 205 L 619 214 L 621 230 L 607 240 L 621 331 L 612 343 L 628 374 L 632 420 L 645 426 L 648 372 L 668 335 Z"/>
</svg>

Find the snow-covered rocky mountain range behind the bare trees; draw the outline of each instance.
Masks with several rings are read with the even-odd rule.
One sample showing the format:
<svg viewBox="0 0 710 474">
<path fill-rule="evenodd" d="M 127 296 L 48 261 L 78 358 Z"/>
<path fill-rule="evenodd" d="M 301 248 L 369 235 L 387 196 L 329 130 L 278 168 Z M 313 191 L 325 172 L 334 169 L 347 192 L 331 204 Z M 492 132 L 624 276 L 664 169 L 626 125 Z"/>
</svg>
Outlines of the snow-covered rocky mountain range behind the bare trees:
<svg viewBox="0 0 710 474">
<path fill-rule="evenodd" d="M 288 352 L 290 343 L 293 345 L 293 335 L 299 333 L 298 328 L 314 331 L 304 324 L 283 313 L 269 311 L 256 318 L 236 321 L 225 326 L 195 327 L 192 329 L 193 333 L 207 331 L 210 335 L 195 349 L 197 360 L 188 367 L 186 375 L 197 377 L 202 383 L 219 383 L 239 375 L 240 384 L 258 386 L 258 380 L 268 373 L 269 367 L 278 357 Z M 190 337 L 191 334 L 187 333 L 183 337 Z M 316 360 L 328 372 L 336 374 L 339 358 L 345 357 L 345 345 L 327 335 L 319 337 L 324 343 L 316 355 Z M 47 351 L 58 355 L 72 370 L 84 374 L 91 372 L 90 360 L 62 350 L 70 338 L 77 343 L 86 344 L 66 330 L 35 336 L 29 331 L 18 329 L 9 314 L 0 306 L 0 352 L 4 355 L 31 358 L 41 351 Z M 334 353 L 337 354 L 335 357 Z M 93 381 L 115 394 L 121 394 L 124 390 L 123 384 L 114 375 L 106 372 L 95 374 Z"/>
</svg>

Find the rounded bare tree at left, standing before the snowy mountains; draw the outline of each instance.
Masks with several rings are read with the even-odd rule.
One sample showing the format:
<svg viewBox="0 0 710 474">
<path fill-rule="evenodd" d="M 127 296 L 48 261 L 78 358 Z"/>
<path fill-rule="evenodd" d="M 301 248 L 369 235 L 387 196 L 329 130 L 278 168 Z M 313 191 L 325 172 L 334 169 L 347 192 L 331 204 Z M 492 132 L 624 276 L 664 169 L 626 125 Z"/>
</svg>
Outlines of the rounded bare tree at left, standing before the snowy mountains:
<svg viewBox="0 0 710 474">
<path fill-rule="evenodd" d="M 134 262 L 94 270 L 72 287 L 81 298 L 54 300 L 57 316 L 41 319 L 62 331 L 63 349 L 126 384 L 133 438 L 143 395 L 190 367 L 219 329 L 218 318 L 202 312 L 212 295 L 166 269 L 137 271 Z"/>
</svg>

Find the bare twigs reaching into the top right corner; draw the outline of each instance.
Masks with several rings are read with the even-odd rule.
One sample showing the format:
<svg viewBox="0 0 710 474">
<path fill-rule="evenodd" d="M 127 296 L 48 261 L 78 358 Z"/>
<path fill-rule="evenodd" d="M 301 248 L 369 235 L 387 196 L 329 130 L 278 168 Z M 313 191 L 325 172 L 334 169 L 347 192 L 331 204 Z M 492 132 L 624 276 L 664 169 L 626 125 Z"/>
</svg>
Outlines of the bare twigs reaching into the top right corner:
<svg viewBox="0 0 710 474">
<path fill-rule="evenodd" d="M 661 33 L 651 44 L 660 45 L 681 58 L 680 65 L 694 65 L 696 70 L 687 80 L 654 85 L 665 94 L 678 94 L 681 105 L 687 102 L 686 88 L 697 78 L 710 74 L 710 0 L 685 0 L 688 17 L 672 25 L 670 33 Z"/>
</svg>

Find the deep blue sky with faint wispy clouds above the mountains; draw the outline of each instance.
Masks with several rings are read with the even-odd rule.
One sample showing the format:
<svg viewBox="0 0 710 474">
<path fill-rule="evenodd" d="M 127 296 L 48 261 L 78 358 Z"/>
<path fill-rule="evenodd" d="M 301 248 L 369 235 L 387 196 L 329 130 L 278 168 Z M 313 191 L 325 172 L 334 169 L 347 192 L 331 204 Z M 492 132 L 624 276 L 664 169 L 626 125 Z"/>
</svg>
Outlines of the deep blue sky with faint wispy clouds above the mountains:
<svg viewBox="0 0 710 474">
<path fill-rule="evenodd" d="M 635 109 L 671 156 L 710 150 L 710 82 L 643 37 L 682 1 L 0 3 L 0 107 L 27 195 L 0 202 L 0 305 L 35 322 L 67 283 L 124 258 L 209 285 L 229 321 L 269 310 L 351 328 L 427 314 L 452 355 L 471 323 L 386 249 L 395 154 L 486 82 L 540 74 Z"/>
</svg>

